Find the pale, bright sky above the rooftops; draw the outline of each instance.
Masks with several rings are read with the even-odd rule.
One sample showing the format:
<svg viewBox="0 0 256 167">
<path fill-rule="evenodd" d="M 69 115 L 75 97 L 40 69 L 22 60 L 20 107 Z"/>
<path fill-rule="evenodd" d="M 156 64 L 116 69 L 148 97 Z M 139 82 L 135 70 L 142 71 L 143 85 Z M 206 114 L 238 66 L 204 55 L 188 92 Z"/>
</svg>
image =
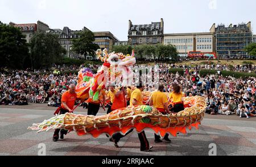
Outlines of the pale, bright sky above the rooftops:
<svg viewBox="0 0 256 167">
<path fill-rule="evenodd" d="M 110 31 L 127 40 L 128 22 L 150 24 L 164 20 L 164 33 L 209 32 L 213 23 L 226 26 L 251 21 L 256 34 L 255 0 L 0 0 L 3 23 L 47 23 Z"/>
</svg>

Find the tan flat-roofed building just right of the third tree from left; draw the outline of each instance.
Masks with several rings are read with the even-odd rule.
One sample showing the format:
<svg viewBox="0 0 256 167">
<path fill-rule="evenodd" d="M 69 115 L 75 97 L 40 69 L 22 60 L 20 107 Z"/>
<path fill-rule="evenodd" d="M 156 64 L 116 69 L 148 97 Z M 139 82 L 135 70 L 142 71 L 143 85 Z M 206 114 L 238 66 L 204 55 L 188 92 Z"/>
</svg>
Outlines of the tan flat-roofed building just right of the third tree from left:
<svg viewBox="0 0 256 167">
<path fill-rule="evenodd" d="M 115 37 L 111 32 L 104 31 L 104 32 L 93 32 L 95 44 L 98 44 L 100 48 L 112 50 L 113 45 L 118 41 L 117 37 Z"/>
</svg>

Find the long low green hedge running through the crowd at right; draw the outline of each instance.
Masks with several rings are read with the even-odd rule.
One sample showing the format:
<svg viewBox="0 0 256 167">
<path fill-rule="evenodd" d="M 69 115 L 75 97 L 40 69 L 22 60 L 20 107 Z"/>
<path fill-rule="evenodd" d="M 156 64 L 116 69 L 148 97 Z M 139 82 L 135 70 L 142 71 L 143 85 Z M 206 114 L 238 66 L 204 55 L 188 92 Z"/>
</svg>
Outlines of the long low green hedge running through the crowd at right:
<svg viewBox="0 0 256 167">
<path fill-rule="evenodd" d="M 207 74 L 217 74 L 217 70 L 206 70 L 206 69 L 201 69 L 199 72 L 201 77 L 204 77 Z M 242 73 L 242 72 L 233 72 L 233 71 L 227 71 L 227 70 L 221 70 L 222 76 L 232 76 L 235 78 L 246 78 L 246 77 L 256 77 L 256 73 Z"/>
</svg>

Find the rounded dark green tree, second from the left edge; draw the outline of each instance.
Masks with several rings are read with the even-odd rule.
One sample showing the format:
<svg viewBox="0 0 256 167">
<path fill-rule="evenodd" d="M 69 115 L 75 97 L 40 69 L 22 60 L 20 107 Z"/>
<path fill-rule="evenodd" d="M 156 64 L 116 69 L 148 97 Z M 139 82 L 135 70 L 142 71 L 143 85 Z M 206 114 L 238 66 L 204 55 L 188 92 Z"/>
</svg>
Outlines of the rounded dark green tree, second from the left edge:
<svg viewBox="0 0 256 167">
<path fill-rule="evenodd" d="M 55 35 L 36 33 L 30 41 L 31 65 L 35 69 L 49 68 L 63 57 L 66 50 L 59 44 Z"/>
</svg>

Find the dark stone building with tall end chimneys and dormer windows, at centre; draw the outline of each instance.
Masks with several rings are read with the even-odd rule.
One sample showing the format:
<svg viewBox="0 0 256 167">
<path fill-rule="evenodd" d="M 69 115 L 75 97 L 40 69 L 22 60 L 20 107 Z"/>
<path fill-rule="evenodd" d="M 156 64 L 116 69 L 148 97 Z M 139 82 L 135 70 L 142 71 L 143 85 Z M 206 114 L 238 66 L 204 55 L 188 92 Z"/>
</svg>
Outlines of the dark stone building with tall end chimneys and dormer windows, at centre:
<svg viewBox="0 0 256 167">
<path fill-rule="evenodd" d="M 163 43 L 164 22 L 151 22 L 151 24 L 135 25 L 129 20 L 128 44 L 159 44 Z"/>
</svg>

